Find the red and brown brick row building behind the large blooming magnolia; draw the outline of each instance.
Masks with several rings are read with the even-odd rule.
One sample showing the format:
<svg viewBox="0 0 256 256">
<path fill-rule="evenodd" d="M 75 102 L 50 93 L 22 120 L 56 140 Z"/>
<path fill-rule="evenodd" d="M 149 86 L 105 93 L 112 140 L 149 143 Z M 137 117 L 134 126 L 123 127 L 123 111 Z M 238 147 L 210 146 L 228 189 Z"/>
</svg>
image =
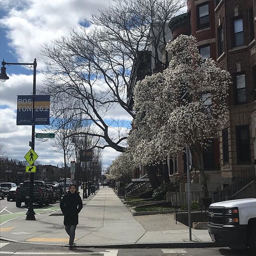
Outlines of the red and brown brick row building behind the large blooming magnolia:
<svg viewBox="0 0 256 256">
<path fill-rule="evenodd" d="M 256 1 L 188 0 L 187 5 L 186 14 L 170 20 L 173 38 L 192 34 L 202 56 L 213 58 L 232 76 L 227 122 L 207 150 L 210 176 L 221 174 L 224 181 L 237 172 L 255 168 Z"/>
</svg>

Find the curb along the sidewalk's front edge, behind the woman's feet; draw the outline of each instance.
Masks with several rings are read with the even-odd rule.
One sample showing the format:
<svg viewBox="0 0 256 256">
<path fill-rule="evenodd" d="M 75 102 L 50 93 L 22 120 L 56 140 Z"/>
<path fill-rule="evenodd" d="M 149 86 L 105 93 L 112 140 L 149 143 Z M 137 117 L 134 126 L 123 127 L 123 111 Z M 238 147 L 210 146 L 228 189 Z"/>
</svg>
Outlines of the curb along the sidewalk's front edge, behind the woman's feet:
<svg viewBox="0 0 256 256">
<path fill-rule="evenodd" d="M 34 242 L 23 242 L 16 241 L 4 237 L 0 237 L 0 240 L 24 244 L 35 244 Z M 50 246 L 62 246 L 67 247 L 67 244 L 46 244 L 46 243 L 36 243 L 41 245 Z M 74 245 L 76 248 L 119 248 L 119 249 L 133 249 L 133 248 L 213 248 L 219 247 L 217 243 L 214 242 L 163 242 L 163 243 L 133 243 L 133 244 L 91 244 L 91 245 Z"/>
</svg>

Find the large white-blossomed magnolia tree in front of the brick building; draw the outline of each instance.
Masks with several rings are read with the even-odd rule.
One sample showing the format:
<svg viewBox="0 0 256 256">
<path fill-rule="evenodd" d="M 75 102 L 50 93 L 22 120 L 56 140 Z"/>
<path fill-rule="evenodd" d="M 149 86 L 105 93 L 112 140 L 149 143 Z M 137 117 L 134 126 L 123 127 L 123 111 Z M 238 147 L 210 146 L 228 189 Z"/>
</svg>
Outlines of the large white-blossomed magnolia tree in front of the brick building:
<svg viewBox="0 0 256 256">
<path fill-rule="evenodd" d="M 178 154 L 187 143 L 207 196 L 203 151 L 206 139 L 216 136 L 225 122 L 230 74 L 200 55 L 193 36 L 181 35 L 166 49 L 173 53 L 169 67 L 135 86 L 137 116 L 129 146 L 137 161 L 155 164 Z"/>
</svg>

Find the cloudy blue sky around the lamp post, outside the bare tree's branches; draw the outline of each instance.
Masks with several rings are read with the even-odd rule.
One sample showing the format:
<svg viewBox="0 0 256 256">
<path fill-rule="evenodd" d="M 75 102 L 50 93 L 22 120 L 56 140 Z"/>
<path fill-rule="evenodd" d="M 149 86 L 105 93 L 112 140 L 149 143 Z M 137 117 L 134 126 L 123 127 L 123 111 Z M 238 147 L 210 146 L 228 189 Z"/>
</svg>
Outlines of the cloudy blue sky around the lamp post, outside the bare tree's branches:
<svg viewBox="0 0 256 256">
<path fill-rule="evenodd" d="M 0 60 L 32 63 L 37 60 L 36 87 L 43 83 L 44 61 L 40 49 L 55 38 L 70 36 L 71 28 L 78 30 L 84 19 L 108 5 L 107 0 L 0 0 Z M 2 66 L 2 65 L 1 65 Z M 6 66 L 9 80 L 0 82 L 0 143 L 9 159 L 24 160 L 30 150 L 31 126 L 16 126 L 17 95 L 31 95 L 33 71 L 21 65 Z M 113 116 L 124 118 L 122 110 L 113 110 Z M 129 118 L 128 118 L 129 119 Z M 40 132 L 41 126 L 36 126 Z M 113 130 L 114 131 L 114 130 Z M 53 151 L 51 140 L 38 144 L 35 152 L 41 164 L 64 163 L 60 153 Z M 118 156 L 112 148 L 102 151 L 103 168 Z"/>
</svg>

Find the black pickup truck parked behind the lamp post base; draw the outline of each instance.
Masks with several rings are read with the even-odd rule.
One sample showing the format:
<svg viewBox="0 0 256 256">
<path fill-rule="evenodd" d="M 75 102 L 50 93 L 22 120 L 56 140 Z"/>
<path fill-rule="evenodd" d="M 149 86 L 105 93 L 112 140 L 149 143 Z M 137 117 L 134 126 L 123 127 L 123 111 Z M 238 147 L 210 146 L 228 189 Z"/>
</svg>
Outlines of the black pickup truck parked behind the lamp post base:
<svg viewBox="0 0 256 256">
<path fill-rule="evenodd" d="M 24 202 L 26 205 L 29 204 L 29 189 L 30 181 L 24 181 L 21 187 L 16 189 L 16 207 L 20 207 L 21 203 Z M 33 190 L 33 203 L 38 204 L 40 207 L 43 204 L 48 205 L 50 200 L 50 192 L 44 181 L 35 180 Z"/>
</svg>

